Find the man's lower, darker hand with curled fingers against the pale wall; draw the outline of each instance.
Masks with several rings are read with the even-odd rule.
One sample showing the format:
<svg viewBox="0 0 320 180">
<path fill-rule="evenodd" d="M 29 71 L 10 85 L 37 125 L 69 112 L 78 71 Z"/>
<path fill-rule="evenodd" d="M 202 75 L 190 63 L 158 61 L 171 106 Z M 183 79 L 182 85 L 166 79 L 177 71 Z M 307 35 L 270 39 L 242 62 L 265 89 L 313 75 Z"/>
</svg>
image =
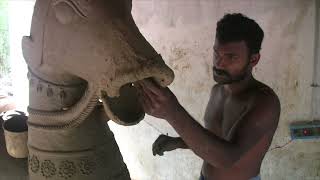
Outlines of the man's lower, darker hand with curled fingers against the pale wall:
<svg viewBox="0 0 320 180">
<path fill-rule="evenodd" d="M 178 148 L 187 148 L 181 138 L 170 137 L 161 134 L 152 145 L 153 155 L 163 156 L 166 151 L 172 151 Z"/>
</svg>

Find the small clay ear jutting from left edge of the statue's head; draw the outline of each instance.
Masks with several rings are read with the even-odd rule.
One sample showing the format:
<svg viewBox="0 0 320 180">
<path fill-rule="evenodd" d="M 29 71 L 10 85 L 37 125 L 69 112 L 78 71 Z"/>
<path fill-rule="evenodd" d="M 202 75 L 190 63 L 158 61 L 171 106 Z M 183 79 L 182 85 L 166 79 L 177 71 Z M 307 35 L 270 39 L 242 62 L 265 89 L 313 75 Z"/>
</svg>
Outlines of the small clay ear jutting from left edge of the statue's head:
<svg viewBox="0 0 320 180">
<path fill-rule="evenodd" d="M 36 68 L 41 65 L 42 48 L 37 47 L 36 43 L 32 41 L 31 36 L 24 36 L 22 38 L 22 54 L 28 66 Z"/>
</svg>

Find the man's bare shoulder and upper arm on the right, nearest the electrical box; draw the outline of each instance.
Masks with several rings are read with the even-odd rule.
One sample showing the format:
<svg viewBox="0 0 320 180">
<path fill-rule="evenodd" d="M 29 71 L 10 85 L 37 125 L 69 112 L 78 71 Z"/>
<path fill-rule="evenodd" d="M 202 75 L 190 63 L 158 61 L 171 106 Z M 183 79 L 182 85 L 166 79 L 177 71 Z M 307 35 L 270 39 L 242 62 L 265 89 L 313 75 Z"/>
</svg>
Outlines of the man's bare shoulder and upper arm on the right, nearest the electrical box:
<svg viewBox="0 0 320 180">
<path fill-rule="evenodd" d="M 260 145 L 266 151 L 278 126 L 280 101 L 272 88 L 263 83 L 259 82 L 250 91 L 255 98 L 244 117 L 245 121 L 238 129 L 236 141 L 247 149 L 265 137 L 264 143 Z"/>
</svg>

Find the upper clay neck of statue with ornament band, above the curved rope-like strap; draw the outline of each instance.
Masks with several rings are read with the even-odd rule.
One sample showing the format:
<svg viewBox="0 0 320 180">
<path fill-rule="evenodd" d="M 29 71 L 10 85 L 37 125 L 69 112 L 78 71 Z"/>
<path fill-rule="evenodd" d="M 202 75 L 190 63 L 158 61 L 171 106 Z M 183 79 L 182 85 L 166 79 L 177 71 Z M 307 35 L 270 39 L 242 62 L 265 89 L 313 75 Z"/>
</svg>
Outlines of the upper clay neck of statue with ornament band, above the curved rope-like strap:
<svg viewBox="0 0 320 180">
<path fill-rule="evenodd" d="M 46 69 L 46 72 L 29 69 L 29 107 L 42 111 L 68 109 L 83 96 L 87 84 L 64 73 Z"/>
</svg>

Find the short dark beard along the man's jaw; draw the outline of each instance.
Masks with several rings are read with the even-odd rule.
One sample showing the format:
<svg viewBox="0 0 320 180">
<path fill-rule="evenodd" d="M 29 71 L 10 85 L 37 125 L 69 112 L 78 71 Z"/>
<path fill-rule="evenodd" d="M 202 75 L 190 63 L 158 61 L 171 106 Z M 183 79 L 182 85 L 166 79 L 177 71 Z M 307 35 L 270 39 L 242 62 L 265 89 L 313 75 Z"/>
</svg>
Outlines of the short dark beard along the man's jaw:
<svg viewBox="0 0 320 180">
<path fill-rule="evenodd" d="M 218 84 L 232 84 L 232 83 L 242 81 L 248 75 L 248 66 L 249 66 L 249 64 L 247 64 L 243 68 L 242 73 L 237 76 L 231 76 L 227 71 L 213 67 L 213 79 Z"/>
</svg>

